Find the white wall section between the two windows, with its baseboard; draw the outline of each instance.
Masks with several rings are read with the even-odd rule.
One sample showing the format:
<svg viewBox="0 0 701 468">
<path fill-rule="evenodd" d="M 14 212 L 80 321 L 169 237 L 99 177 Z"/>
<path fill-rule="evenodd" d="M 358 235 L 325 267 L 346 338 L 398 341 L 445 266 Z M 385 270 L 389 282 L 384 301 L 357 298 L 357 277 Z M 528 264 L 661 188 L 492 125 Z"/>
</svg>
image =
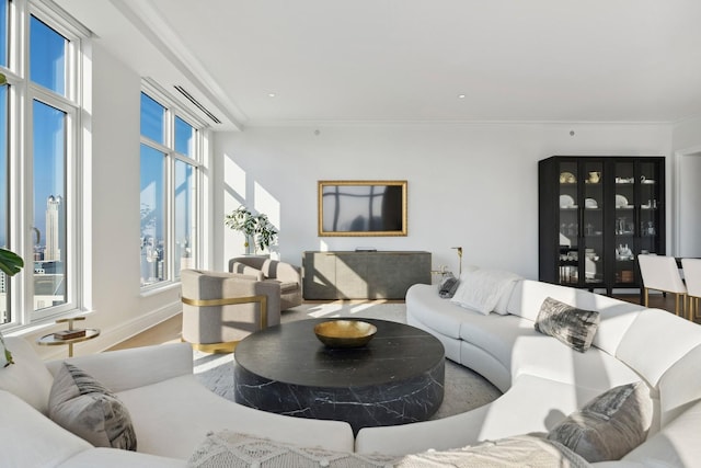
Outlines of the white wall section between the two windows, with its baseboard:
<svg viewBox="0 0 701 468">
<path fill-rule="evenodd" d="M 85 327 L 95 340 L 76 354 L 108 347 L 181 310 L 180 285 L 141 295 L 139 283 L 139 106 L 141 79 L 96 43 L 92 56 L 93 93 L 88 99 L 83 175 L 85 252 L 82 282 Z M 92 101 L 92 105 L 90 104 Z M 30 341 L 55 331 L 26 333 Z M 45 357 L 65 356 L 65 346 L 41 346 Z"/>
</svg>

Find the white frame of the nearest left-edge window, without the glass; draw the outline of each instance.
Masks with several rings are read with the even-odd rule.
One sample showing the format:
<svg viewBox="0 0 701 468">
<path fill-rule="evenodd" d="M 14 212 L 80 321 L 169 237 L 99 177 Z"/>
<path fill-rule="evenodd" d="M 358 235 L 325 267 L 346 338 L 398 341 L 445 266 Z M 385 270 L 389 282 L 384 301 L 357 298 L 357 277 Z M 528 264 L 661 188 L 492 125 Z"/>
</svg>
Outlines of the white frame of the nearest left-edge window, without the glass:
<svg viewBox="0 0 701 468">
<path fill-rule="evenodd" d="M 65 95 L 31 81 L 30 24 L 32 16 L 67 39 Z M 90 32 L 51 3 L 10 0 L 8 11 L 8 248 L 23 259 L 24 269 L 9 278 L 10 320 L 0 330 L 14 330 L 74 312 L 82 306 L 82 57 Z M 34 127 L 33 106 L 38 101 L 65 113 L 64 199 L 66 213 L 65 303 L 34 310 Z M 41 206 L 41 203 L 39 203 Z"/>
</svg>

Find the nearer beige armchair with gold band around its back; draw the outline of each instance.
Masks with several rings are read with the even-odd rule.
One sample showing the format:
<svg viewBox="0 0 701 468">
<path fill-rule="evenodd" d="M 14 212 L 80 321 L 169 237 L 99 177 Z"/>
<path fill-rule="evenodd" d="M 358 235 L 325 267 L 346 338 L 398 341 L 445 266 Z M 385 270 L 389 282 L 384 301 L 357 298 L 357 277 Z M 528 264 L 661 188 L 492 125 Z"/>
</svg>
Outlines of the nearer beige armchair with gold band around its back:
<svg viewBox="0 0 701 468">
<path fill-rule="evenodd" d="M 182 340 L 207 353 L 228 353 L 257 330 L 280 322 L 280 286 L 203 270 L 181 272 Z"/>
</svg>

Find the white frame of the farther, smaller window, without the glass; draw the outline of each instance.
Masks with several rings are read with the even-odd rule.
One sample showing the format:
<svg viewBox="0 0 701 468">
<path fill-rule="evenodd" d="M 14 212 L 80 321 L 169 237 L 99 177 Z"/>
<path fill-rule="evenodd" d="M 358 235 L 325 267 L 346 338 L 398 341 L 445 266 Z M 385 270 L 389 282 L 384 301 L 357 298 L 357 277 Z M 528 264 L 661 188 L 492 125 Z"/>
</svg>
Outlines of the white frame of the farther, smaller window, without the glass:
<svg viewBox="0 0 701 468">
<path fill-rule="evenodd" d="M 203 122 L 200 118 L 196 117 L 192 114 L 187 107 L 182 105 L 176 99 L 165 92 L 161 87 L 159 87 L 154 81 L 146 79 L 141 83 L 141 93 L 146 94 L 148 98 L 156 101 L 158 104 L 164 107 L 164 144 L 159 141 L 154 141 L 151 138 L 148 138 L 140 134 L 140 145 L 148 146 L 161 153 L 164 155 L 165 158 L 165 181 L 164 181 L 164 191 L 165 191 L 165 204 L 164 204 L 164 277 L 161 281 L 141 284 L 141 294 L 151 294 L 153 292 L 158 292 L 160 289 L 169 288 L 172 285 L 180 284 L 180 274 L 175 272 L 175 165 L 176 161 L 182 161 L 188 165 L 191 165 L 195 170 L 194 174 L 194 193 L 196 194 L 196 199 L 194 202 L 195 213 L 192 214 L 193 222 L 195 225 L 194 228 L 194 237 L 195 239 L 191 241 L 191 244 L 194 248 L 191 248 L 192 254 L 192 266 L 196 266 L 200 263 L 202 259 L 202 239 L 204 238 L 203 233 L 203 203 L 204 203 L 204 194 L 202 187 L 204 186 L 204 155 L 206 147 L 206 128 L 207 124 Z M 176 118 L 182 119 L 186 124 L 188 124 L 195 130 L 195 141 L 193 144 L 193 155 L 187 156 L 175 150 L 175 121 Z M 140 170 L 139 170 L 140 176 Z M 140 274 L 140 265 L 139 265 L 139 274 Z"/>
</svg>

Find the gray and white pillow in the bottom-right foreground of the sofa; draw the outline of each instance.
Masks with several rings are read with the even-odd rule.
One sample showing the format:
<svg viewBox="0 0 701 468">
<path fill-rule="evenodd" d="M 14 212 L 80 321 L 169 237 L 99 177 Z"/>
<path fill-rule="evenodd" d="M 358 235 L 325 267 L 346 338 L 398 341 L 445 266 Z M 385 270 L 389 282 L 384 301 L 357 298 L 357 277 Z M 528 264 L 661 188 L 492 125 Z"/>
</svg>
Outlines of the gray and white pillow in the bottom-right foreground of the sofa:
<svg viewBox="0 0 701 468">
<path fill-rule="evenodd" d="M 645 442 L 652 421 L 650 389 L 639 381 L 596 397 L 553 427 L 548 440 L 589 463 L 619 460 Z"/>
</svg>

